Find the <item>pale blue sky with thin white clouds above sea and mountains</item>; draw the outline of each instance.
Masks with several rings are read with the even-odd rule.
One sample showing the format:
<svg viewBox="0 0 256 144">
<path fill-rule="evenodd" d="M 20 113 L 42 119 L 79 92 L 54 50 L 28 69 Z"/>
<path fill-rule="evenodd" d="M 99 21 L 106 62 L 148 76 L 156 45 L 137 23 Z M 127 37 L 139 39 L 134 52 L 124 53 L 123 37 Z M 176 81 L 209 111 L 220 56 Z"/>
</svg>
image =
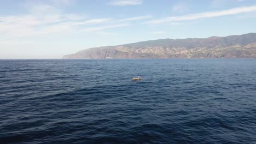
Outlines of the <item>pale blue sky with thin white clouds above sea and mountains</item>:
<svg viewBox="0 0 256 144">
<path fill-rule="evenodd" d="M 0 0 L 0 59 L 256 32 L 256 0 Z"/>
</svg>

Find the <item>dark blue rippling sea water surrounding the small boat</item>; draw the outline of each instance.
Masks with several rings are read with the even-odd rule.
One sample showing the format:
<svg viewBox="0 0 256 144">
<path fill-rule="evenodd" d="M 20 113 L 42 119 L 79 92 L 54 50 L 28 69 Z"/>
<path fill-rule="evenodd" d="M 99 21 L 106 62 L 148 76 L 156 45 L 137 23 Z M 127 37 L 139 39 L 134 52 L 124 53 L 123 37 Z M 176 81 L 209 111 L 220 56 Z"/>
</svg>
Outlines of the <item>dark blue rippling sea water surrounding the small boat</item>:
<svg viewBox="0 0 256 144">
<path fill-rule="evenodd" d="M 256 59 L 0 60 L 0 143 L 256 143 Z"/>
</svg>

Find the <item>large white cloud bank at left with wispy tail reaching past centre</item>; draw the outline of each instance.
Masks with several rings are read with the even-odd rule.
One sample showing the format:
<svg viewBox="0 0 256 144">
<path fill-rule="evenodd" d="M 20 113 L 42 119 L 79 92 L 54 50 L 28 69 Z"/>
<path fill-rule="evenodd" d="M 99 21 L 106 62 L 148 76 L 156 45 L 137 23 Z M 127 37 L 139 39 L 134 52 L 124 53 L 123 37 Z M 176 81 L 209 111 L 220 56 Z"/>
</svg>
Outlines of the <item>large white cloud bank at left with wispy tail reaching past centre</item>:
<svg viewBox="0 0 256 144">
<path fill-rule="evenodd" d="M 0 15 L 0 33 L 4 37 L 100 31 L 129 26 L 124 22 L 152 17 L 145 15 L 119 20 L 112 17 L 88 19 L 87 15 L 63 13 L 61 9 L 47 4 L 26 5 L 26 9 L 28 13 L 24 15 Z"/>
</svg>

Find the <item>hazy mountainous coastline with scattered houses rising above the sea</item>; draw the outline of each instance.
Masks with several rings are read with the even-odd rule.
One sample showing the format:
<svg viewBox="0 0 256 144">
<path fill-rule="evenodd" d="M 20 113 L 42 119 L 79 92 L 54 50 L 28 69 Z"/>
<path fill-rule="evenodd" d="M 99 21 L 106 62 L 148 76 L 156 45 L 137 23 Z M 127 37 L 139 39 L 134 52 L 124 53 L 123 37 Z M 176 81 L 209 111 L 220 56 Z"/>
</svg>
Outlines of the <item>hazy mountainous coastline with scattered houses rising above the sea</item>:
<svg viewBox="0 0 256 144">
<path fill-rule="evenodd" d="M 96 47 L 63 58 L 256 58 L 256 33 Z"/>
</svg>

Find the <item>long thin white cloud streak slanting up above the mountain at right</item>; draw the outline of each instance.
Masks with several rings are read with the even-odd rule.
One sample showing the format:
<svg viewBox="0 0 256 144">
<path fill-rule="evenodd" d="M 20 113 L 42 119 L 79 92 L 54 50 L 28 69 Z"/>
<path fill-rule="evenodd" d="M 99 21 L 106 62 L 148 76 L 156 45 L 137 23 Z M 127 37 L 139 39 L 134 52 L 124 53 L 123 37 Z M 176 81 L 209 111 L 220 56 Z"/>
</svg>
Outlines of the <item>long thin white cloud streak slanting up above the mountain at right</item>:
<svg viewBox="0 0 256 144">
<path fill-rule="evenodd" d="M 209 18 L 209 17 L 218 17 L 218 16 L 225 16 L 225 15 L 248 13 L 248 12 L 252 12 L 252 11 L 256 11 L 256 5 L 251 6 L 251 7 L 239 7 L 239 8 L 233 8 L 233 9 L 228 9 L 228 10 L 210 11 L 210 12 L 205 12 L 205 13 L 165 17 L 163 19 L 146 21 L 144 23 L 164 23 L 164 22 L 173 22 L 173 21 L 196 20 L 196 19 Z"/>
</svg>

